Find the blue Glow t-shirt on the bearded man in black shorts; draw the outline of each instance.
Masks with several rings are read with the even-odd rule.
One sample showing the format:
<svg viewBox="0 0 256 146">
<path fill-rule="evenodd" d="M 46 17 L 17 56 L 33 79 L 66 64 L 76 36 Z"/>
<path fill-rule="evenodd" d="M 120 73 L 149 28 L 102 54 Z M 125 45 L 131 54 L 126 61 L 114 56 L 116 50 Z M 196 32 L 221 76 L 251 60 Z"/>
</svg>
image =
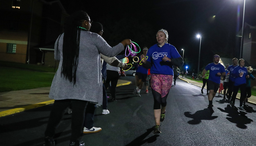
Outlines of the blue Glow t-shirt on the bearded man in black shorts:
<svg viewBox="0 0 256 146">
<path fill-rule="evenodd" d="M 210 63 L 205 67 L 205 70 L 210 71 L 208 80 L 211 80 L 217 84 L 221 83 L 221 75 L 217 75 L 217 73 L 224 73 L 225 72 L 224 66 L 222 66 L 219 63 L 218 64 Z"/>
</svg>

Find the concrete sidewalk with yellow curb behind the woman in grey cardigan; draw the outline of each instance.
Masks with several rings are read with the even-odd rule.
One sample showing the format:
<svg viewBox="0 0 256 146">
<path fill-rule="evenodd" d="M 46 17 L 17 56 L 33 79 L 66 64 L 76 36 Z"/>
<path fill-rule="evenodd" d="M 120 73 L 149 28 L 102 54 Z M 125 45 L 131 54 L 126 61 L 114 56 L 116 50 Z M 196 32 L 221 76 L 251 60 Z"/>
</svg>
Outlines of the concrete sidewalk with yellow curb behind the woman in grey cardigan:
<svg viewBox="0 0 256 146">
<path fill-rule="evenodd" d="M 130 83 L 118 80 L 117 87 Z M 51 104 L 54 100 L 48 97 L 49 93 L 50 87 L 0 92 L 0 117 Z"/>
</svg>

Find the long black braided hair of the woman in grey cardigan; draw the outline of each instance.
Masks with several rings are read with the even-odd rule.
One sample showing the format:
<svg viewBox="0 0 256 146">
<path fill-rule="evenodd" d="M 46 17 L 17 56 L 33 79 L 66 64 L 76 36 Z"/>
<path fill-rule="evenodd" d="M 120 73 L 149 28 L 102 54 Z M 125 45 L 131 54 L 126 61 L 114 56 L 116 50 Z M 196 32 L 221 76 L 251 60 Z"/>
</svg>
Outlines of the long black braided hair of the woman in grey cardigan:
<svg viewBox="0 0 256 146">
<path fill-rule="evenodd" d="M 63 36 L 63 62 L 61 66 L 62 74 L 69 82 L 76 83 L 76 70 L 78 66 L 81 22 L 88 20 L 89 16 L 84 11 L 76 11 L 67 17 L 64 24 Z"/>
</svg>

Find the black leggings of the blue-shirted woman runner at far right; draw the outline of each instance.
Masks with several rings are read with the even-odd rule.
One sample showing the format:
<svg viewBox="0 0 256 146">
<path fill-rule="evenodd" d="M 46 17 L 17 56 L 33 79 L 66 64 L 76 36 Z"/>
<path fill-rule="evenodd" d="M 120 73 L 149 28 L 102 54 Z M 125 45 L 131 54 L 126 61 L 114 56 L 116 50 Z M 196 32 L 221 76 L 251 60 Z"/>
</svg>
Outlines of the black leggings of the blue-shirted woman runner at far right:
<svg viewBox="0 0 256 146">
<path fill-rule="evenodd" d="M 231 98 L 231 101 L 233 101 L 233 104 L 235 104 L 237 93 L 238 93 L 238 90 L 240 88 L 240 107 L 243 106 L 244 98 L 246 97 L 245 86 L 246 86 L 246 84 L 241 84 L 241 85 L 238 85 L 238 86 L 234 86 L 233 94 L 232 94 L 232 98 Z"/>
</svg>

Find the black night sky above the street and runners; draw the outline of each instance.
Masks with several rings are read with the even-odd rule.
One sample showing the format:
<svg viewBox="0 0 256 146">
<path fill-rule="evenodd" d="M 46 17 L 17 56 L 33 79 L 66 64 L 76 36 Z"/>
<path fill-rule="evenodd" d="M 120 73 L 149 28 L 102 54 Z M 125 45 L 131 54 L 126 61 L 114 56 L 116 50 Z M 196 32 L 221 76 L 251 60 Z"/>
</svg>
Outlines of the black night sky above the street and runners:
<svg viewBox="0 0 256 146">
<path fill-rule="evenodd" d="M 61 0 L 68 14 L 86 11 L 103 25 L 103 38 L 111 45 L 130 38 L 140 47 L 156 44 L 156 32 L 164 28 L 189 71 L 197 72 L 202 35 L 200 70 L 213 62 L 213 55 L 239 58 L 244 0 Z M 246 0 L 244 22 L 256 26 L 256 0 Z M 240 12 L 238 11 L 240 9 Z M 215 16 L 215 17 L 213 17 Z M 92 24 L 93 25 L 93 24 Z M 180 67 L 182 68 L 182 67 Z"/>
</svg>

